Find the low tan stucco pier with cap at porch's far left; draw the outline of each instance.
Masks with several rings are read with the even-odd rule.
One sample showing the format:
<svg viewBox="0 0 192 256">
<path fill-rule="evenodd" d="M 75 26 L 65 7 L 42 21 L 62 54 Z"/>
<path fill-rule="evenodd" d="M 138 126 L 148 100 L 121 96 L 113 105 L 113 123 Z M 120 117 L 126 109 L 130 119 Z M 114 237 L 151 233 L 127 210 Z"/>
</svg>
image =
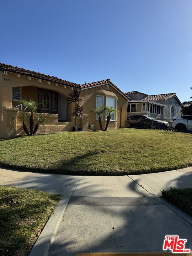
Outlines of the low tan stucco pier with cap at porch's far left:
<svg viewBox="0 0 192 256">
<path fill-rule="evenodd" d="M 17 135 L 17 112 L 18 108 L 2 108 L 1 138 L 12 138 Z"/>
</svg>

